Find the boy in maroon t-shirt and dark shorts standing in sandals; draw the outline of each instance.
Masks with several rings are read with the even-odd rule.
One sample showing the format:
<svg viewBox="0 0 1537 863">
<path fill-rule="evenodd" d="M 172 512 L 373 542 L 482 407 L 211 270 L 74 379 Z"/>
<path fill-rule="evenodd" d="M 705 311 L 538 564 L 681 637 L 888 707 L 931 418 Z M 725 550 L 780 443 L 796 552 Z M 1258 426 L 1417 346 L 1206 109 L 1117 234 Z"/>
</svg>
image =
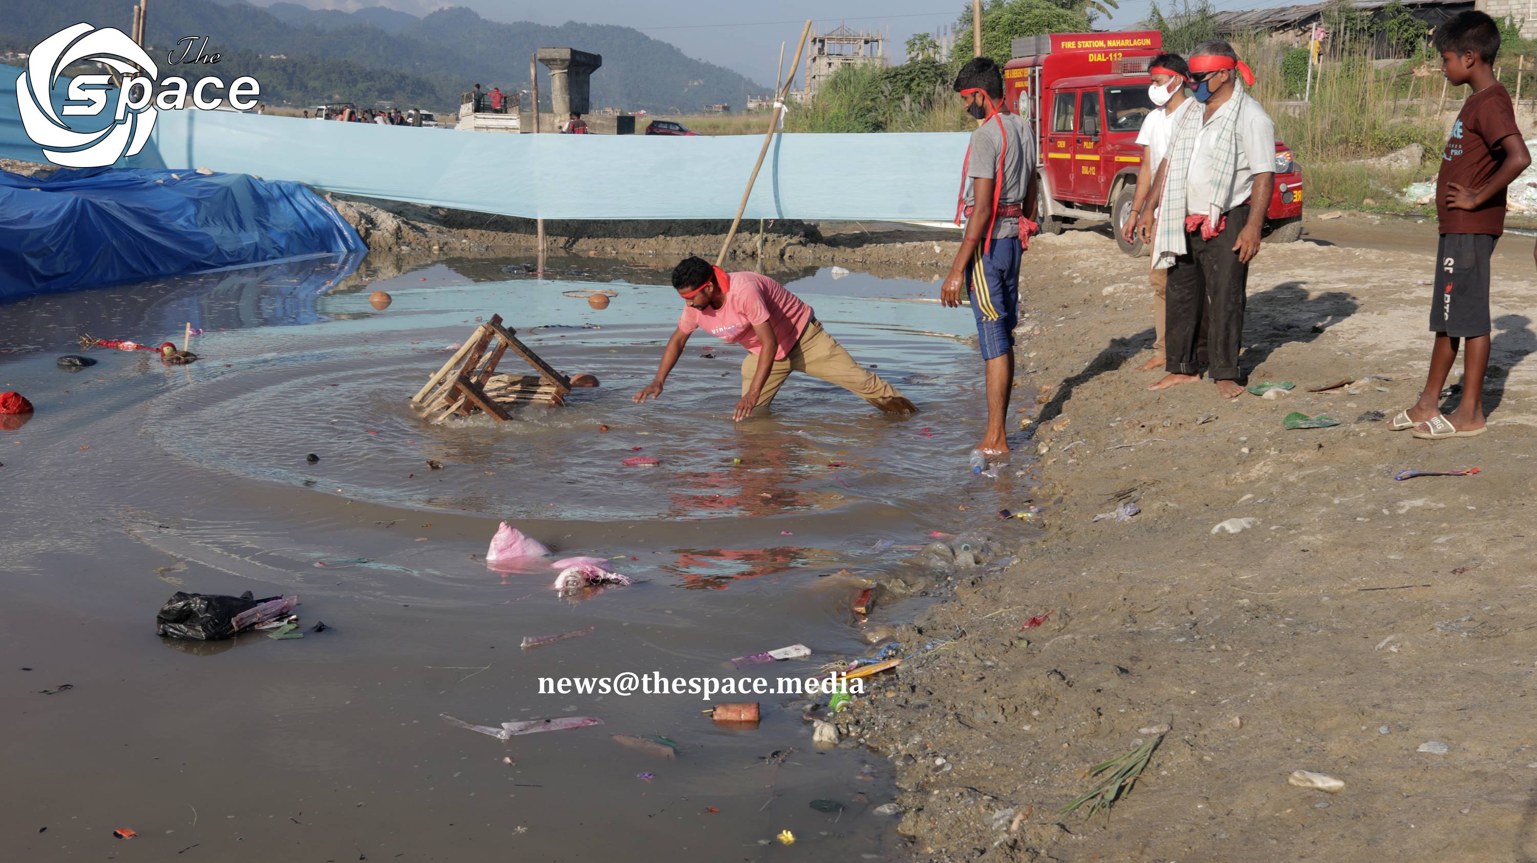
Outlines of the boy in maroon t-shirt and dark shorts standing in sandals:
<svg viewBox="0 0 1537 863">
<path fill-rule="evenodd" d="M 1505 188 L 1531 165 L 1526 142 L 1515 128 L 1511 94 L 1489 68 L 1500 52 L 1500 29 L 1483 12 L 1460 12 L 1436 28 L 1442 72 L 1452 85 L 1469 85 L 1442 151 L 1436 177 L 1436 215 L 1440 246 L 1431 289 L 1431 371 L 1419 402 L 1399 411 L 1393 431 L 1414 429 L 1414 437 L 1442 440 L 1483 434 L 1483 372 L 1489 366 L 1489 257 L 1505 232 Z M 1440 391 L 1457 360 L 1459 340 L 1468 340 L 1462 358 L 1462 402 L 1449 417 L 1439 408 Z"/>
</svg>

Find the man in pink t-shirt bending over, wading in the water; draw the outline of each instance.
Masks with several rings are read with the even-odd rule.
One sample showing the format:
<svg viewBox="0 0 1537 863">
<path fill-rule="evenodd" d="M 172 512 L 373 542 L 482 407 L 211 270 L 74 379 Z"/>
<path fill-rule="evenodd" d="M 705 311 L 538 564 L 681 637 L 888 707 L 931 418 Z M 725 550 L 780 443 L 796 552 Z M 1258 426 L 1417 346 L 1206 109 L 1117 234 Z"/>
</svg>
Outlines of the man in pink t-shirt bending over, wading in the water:
<svg viewBox="0 0 1537 863">
<path fill-rule="evenodd" d="M 673 268 L 673 288 L 684 300 L 678 329 L 667 340 L 656 378 L 635 394 L 635 402 L 659 398 L 684 345 L 695 329 L 747 348 L 742 360 L 742 397 L 732 418 L 742 422 L 755 408 L 767 408 L 792 371 L 819 377 L 870 402 L 888 414 L 913 414 L 918 408 L 890 383 L 848 355 L 816 320 L 812 306 L 767 275 L 727 274 L 709 262 L 689 257 Z M 761 362 L 767 352 L 772 362 Z"/>
</svg>

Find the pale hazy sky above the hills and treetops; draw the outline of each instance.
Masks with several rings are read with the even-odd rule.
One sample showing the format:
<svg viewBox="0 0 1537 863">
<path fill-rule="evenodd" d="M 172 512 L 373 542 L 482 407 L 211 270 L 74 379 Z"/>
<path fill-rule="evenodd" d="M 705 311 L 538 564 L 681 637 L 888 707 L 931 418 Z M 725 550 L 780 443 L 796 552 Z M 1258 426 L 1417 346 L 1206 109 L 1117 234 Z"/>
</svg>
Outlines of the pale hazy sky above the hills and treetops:
<svg viewBox="0 0 1537 863">
<path fill-rule="evenodd" d="M 267 5 L 269 0 L 254 0 Z M 779 0 L 778 3 L 722 3 L 719 0 L 563 0 L 532 3 L 529 0 L 297 0 L 310 8 L 358 9 L 389 6 L 423 15 L 441 6 L 469 6 L 481 17 L 496 22 L 535 22 L 561 25 L 583 22 L 636 28 L 653 38 L 670 42 L 690 57 L 709 60 L 768 85 L 779 57 L 779 43 L 788 42 L 787 55 L 795 54 L 801 23 L 815 18 L 819 29 L 847 23 L 853 29 L 890 28 L 887 52 L 902 60 L 902 43 L 915 32 L 933 32 L 953 25 L 968 0 Z M 1279 0 L 1213 0 L 1217 9 L 1253 9 L 1283 5 Z M 1147 15 L 1150 0 L 1124 0 L 1120 11 L 1097 26 L 1119 29 Z M 1168 8 L 1168 3 L 1164 3 Z M 727 25 L 727 26 L 721 26 Z M 575 45 L 572 48 L 581 48 Z"/>
</svg>

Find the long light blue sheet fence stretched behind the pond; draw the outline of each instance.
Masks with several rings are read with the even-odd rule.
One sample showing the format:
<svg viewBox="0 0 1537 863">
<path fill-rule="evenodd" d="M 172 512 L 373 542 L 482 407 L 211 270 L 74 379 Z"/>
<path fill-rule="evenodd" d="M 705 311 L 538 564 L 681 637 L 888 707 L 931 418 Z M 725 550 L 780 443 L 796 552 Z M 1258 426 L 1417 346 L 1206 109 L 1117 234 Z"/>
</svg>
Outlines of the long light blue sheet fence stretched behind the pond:
<svg viewBox="0 0 1537 863">
<path fill-rule="evenodd" d="M 0 68 L 0 155 L 40 162 L 15 98 Z M 762 135 L 515 135 L 186 109 L 161 111 L 126 165 L 527 218 L 730 218 L 761 146 Z M 776 135 L 745 217 L 950 220 L 965 148 L 961 132 Z"/>
</svg>

